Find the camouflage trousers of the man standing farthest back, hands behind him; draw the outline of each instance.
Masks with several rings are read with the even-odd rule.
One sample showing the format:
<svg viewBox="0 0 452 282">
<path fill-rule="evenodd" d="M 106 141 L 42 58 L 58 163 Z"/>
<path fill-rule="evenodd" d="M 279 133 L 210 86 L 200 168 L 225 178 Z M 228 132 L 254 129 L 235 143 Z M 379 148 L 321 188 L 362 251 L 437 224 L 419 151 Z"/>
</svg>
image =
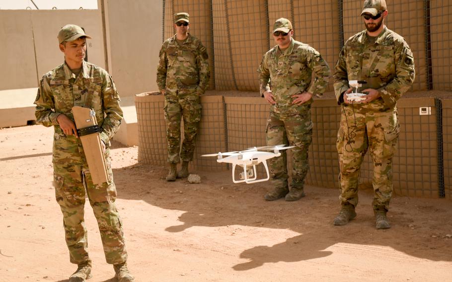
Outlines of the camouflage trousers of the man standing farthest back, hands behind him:
<svg viewBox="0 0 452 282">
<path fill-rule="evenodd" d="M 165 93 L 166 141 L 168 147 L 168 163 L 193 160 L 196 135 L 201 121 L 200 97 L 193 93 Z M 184 121 L 182 148 L 180 146 L 181 119 Z"/>
</svg>

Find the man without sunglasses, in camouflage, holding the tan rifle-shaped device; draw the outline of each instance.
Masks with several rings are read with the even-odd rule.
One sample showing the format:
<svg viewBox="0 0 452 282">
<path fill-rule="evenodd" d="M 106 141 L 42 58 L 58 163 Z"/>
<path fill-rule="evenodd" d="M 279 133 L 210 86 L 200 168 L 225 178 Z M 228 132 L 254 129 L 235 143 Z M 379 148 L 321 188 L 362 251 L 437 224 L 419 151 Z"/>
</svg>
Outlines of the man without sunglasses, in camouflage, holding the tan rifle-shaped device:
<svg viewBox="0 0 452 282">
<path fill-rule="evenodd" d="M 65 62 L 47 72 L 39 82 L 36 97 L 38 123 L 55 129 L 53 165 L 56 200 L 63 212 L 66 243 L 71 263 L 77 271 L 70 282 L 91 277 L 87 232 L 83 219 L 85 193 L 99 225 L 107 263 L 113 264 L 120 282 L 134 281 L 127 269 L 124 234 L 115 206 L 116 187 L 110 165 L 110 139 L 123 118 L 119 96 L 111 76 L 103 69 L 85 62 L 86 38 L 91 38 L 76 25 L 64 26 L 58 40 Z M 101 128 L 100 138 L 111 182 L 92 183 L 85 153 L 74 124 L 72 107 L 95 111 Z"/>
</svg>

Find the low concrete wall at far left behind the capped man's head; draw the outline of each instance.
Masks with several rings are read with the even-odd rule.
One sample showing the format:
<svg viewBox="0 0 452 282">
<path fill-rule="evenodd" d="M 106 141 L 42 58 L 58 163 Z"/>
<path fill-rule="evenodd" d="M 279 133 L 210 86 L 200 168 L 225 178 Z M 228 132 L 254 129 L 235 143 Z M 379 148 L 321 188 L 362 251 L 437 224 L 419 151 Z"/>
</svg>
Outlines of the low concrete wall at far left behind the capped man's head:
<svg viewBox="0 0 452 282">
<path fill-rule="evenodd" d="M 74 23 L 93 37 L 88 60 L 104 67 L 99 10 L 0 10 L 0 90 L 30 88 L 42 75 L 64 61 L 57 35 Z"/>
</svg>

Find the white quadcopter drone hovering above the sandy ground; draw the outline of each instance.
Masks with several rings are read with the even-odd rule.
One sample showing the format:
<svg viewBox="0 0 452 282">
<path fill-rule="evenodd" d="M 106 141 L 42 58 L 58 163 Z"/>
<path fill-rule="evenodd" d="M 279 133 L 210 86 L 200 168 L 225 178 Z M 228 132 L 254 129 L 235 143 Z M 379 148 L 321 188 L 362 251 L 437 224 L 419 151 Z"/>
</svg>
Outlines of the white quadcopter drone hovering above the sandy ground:
<svg viewBox="0 0 452 282">
<path fill-rule="evenodd" d="M 217 162 L 227 162 L 232 164 L 232 182 L 247 184 L 267 181 L 270 179 L 270 174 L 268 172 L 267 160 L 273 157 L 278 157 L 281 155 L 280 150 L 286 150 L 293 148 L 294 146 L 286 146 L 285 144 L 276 146 L 263 146 L 263 147 L 252 147 L 245 149 L 243 151 L 234 152 L 218 152 L 216 154 L 202 155 L 203 157 L 217 157 Z M 226 156 L 226 157 L 224 157 Z M 267 178 L 257 179 L 256 165 L 262 163 L 267 172 Z M 243 167 L 243 171 L 240 172 L 240 180 L 235 179 L 235 166 Z M 251 168 L 252 166 L 252 168 Z"/>
</svg>

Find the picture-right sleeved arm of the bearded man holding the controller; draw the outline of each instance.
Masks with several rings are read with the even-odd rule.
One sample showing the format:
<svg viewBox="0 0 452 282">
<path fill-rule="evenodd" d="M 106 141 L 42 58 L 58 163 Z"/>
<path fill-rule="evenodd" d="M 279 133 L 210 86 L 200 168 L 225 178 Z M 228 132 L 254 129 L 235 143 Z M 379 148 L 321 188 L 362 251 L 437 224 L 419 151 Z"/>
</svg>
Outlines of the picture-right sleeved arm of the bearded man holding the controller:
<svg viewBox="0 0 452 282">
<path fill-rule="evenodd" d="M 384 104 L 389 107 L 395 105 L 398 99 L 410 89 L 414 81 L 414 60 L 413 53 L 405 41 L 399 42 L 395 46 L 395 73 L 392 81 L 378 89 L 383 98 Z"/>
</svg>

